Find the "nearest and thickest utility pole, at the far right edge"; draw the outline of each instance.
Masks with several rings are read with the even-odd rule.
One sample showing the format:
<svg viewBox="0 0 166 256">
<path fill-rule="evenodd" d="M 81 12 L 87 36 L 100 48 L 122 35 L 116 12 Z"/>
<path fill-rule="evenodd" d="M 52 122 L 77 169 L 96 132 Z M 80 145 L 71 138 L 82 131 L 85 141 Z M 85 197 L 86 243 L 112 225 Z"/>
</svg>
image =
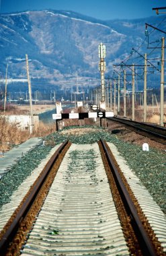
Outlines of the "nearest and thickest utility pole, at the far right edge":
<svg viewBox="0 0 166 256">
<path fill-rule="evenodd" d="M 164 126 L 164 46 L 165 41 L 162 37 L 161 45 L 161 96 L 160 96 L 160 125 Z"/>
</svg>

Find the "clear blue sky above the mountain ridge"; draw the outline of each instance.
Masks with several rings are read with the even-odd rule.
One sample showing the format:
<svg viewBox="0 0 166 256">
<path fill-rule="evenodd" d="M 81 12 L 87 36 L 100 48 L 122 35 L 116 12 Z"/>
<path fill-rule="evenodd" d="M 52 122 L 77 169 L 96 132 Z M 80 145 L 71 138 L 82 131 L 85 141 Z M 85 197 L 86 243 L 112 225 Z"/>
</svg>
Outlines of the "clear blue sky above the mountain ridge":
<svg viewBox="0 0 166 256">
<path fill-rule="evenodd" d="M 147 18 L 156 15 L 152 8 L 165 6 L 166 0 L 0 0 L 0 13 L 54 9 L 114 20 Z"/>
</svg>

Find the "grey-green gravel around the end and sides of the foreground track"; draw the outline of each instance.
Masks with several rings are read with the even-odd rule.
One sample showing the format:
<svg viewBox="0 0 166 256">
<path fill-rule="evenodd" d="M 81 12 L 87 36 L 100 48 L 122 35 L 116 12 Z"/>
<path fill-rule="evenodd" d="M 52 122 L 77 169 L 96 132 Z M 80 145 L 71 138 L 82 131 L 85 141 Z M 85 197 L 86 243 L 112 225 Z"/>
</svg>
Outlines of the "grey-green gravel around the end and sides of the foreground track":
<svg viewBox="0 0 166 256">
<path fill-rule="evenodd" d="M 0 181 L 0 207 L 10 201 L 10 197 L 17 187 L 30 175 L 32 170 L 46 157 L 51 148 L 69 139 L 72 143 L 91 144 L 99 139 L 114 143 L 128 166 L 147 187 L 153 199 L 166 214 L 166 158 L 165 152 L 155 148 L 142 151 L 142 146 L 123 141 L 118 135 L 111 134 L 101 127 L 66 127 L 63 130 L 44 137 L 42 143 L 23 156 L 15 166 L 5 174 Z"/>
</svg>

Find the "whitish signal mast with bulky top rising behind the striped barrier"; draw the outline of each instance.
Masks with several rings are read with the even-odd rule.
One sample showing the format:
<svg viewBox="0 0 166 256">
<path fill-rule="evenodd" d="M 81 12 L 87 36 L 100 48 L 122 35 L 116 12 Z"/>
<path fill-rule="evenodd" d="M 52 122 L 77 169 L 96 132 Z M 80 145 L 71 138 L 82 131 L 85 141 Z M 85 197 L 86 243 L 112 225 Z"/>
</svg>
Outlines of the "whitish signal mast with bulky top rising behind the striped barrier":
<svg viewBox="0 0 166 256">
<path fill-rule="evenodd" d="M 106 102 L 105 102 L 105 86 L 104 86 L 104 73 L 106 71 L 106 62 L 104 58 L 106 58 L 106 45 L 103 45 L 102 42 L 99 44 L 99 70 L 101 73 L 101 102 L 100 108 L 106 110 Z"/>
</svg>

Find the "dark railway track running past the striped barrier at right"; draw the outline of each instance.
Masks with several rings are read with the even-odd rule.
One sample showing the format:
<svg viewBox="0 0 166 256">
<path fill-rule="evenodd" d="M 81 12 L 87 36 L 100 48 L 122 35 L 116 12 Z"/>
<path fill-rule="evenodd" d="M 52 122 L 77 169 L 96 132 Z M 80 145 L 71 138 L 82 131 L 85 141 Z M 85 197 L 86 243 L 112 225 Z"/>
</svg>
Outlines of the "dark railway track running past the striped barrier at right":
<svg viewBox="0 0 166 256">
<path fill-rule="evenodd" d="M 134 128 L 137 132 L 143 133 L 143 135 L 151 135 L 151 138 L 157 140 L 158 142 L 165 143 L 166 141 L 166 128 L 160 127 L 157 125 L 150 125 L 147 123 L 131 121 L 128 119 L 124 119 L 121 117 L 108 117 L 110 121 L 115 121 L 118 123 L 123 123 L 124 125 L 128 125 L 128 127 Z"/>
</svg>

